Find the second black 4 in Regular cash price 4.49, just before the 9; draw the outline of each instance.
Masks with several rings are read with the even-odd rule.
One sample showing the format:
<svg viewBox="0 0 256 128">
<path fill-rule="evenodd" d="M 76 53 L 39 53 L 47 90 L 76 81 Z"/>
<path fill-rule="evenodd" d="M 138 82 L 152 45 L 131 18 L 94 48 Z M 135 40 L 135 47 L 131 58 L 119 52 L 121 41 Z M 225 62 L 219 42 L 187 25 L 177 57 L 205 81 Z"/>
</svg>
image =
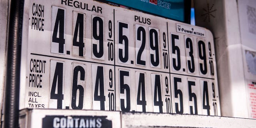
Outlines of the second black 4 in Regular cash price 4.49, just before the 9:
<svg viewBox="0 0 256 128">
<path fill-rule="evenodd" d="M 79 41 L 77 42 L 79 29 Z M 79 47 L 79 56 L 84 56 L 84 14 L 78 13 L 73 37 L 73 46 Z"/>
</svg>

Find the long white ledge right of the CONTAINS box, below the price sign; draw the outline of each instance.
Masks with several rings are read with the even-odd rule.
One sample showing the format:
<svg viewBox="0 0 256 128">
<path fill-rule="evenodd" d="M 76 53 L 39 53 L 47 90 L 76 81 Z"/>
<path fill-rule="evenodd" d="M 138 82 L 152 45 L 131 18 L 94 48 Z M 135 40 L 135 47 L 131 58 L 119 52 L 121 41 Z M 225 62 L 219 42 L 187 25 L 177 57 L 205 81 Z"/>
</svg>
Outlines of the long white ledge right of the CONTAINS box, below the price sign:
<svg viewBox="0 0 256 128">
<path fill-rule="evenodd" d="M 122 128 L 256 128 L 256 120 L 220 116 L 122 113 Z"/>
</svg>

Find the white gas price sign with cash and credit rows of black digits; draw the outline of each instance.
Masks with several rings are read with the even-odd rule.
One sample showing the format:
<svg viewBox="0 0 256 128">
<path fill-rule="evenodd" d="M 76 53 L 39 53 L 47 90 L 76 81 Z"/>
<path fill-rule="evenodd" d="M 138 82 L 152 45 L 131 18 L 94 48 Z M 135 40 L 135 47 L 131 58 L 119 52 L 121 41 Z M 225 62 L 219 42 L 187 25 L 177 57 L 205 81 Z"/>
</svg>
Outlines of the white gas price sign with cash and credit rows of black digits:
<svg viewBox="0 0 256 128">
<path fill-rule="evenodd" d="M 212 34 L 93 0 L 30 0 L 26 108 L 220 116 Z"/>
</svg>

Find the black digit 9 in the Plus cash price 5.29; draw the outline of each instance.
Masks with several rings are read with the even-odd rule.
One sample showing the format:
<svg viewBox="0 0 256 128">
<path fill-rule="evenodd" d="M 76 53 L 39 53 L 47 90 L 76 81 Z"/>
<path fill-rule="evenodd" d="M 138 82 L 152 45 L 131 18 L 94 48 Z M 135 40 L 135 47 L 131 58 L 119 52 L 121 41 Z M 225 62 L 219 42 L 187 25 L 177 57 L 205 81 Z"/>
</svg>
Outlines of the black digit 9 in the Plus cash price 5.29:
<svg viewBox="0 0 256 128">
<path fill-rule="evenodd" d="M 159 65 L 159 48 L 158 48 L 158 32 L 155 29 L 149 30 L 149 43 L 150 49 L 155 50 L 156 60 L 154 59 L 154 54 L 150 54 L 150 62 L 153 66 L 157 67 Z"/>
</svg>

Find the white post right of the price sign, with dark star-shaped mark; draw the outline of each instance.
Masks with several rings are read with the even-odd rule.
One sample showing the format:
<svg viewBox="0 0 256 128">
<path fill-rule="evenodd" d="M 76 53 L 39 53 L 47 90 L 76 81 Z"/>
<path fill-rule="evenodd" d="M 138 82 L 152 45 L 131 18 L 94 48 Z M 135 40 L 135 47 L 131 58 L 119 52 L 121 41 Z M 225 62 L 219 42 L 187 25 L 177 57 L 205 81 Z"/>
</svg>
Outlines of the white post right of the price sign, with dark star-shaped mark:
<svg viewBox="0 0 256 128">
<path fill-rule="evenodd" d="M 248 118 L 236 0 L 195 0 L 194 5 L 196 25 L 214 35 L 222 116 Z"/>
</svg>

